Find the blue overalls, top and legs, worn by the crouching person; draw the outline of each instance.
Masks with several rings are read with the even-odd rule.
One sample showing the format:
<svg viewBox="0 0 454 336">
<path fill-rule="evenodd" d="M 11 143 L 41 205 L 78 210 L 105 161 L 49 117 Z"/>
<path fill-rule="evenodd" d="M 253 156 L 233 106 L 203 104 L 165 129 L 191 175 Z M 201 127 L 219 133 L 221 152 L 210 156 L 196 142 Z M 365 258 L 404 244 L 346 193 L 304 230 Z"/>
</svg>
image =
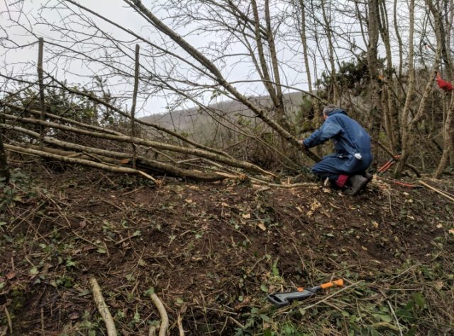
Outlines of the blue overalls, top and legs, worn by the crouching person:
<svg viewBox="0 0 454 336">
<path fill-rule="evenodd" d="M 331 185 L 336 185 L 339 175 L 365 173 L 372 163 L 370 135 L 358 122 L 348 117 L 344 110 L 328 113 L 328 118 L 321 127 L 303 142 L 307 148 L 311 148 L 328 139 L 333 139 L 336 153 L 323 156 L 312 167 L 312 173 L 323 180 L 328 178 Z"/>
</svg>

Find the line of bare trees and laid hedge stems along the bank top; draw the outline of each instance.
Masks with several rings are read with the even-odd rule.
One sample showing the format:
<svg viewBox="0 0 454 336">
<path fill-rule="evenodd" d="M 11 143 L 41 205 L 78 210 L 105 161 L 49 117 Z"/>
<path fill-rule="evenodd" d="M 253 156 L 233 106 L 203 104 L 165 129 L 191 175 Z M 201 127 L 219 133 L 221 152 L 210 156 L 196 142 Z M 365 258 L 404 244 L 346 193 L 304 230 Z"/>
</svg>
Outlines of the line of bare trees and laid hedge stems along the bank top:
<svg viewBox="0 0 454 336">
<path fill-rule="evenodd" d="M 437 76 L 454 80 L 452 0 L 123 5 L 117 11 L 142 29 L 82 1 L 48 1 L 33 12 L 25 1 L 6 1 L 6 151 L 148 178 L 245 174 L 270 183 L 276 169 L 295 173 L 319 160 L 323 152 L 299 139 L 321 124 L 323 105 L 335 103 L 372 135 L 373 168 L 396 156 L 396 177 L 416 166 L 439 178 L 454 164 L 453 95 L 436 86 Z M 11 62 L 18 50 L 35 58 Z M 286 100 L 295 91 L 297 105 Z M 156 97 L 170 115 L 191 106 L 208 116 L 211 132 L 200 137 L 138 118 Z M 242 108 L 219 109 L 226 100 Z M 0 172 L 5 160 L 2 153 Z"/>
</svg>

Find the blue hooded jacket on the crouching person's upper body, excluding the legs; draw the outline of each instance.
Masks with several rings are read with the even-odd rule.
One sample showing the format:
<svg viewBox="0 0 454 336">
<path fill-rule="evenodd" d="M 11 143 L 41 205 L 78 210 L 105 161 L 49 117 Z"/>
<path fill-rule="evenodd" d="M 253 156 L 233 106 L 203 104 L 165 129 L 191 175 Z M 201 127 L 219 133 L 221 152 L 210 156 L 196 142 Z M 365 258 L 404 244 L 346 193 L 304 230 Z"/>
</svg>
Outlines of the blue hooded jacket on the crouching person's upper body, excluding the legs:
<svg viewBox="0 0 454 336">
<path fill-rule="evenodd" d="M 303 142 L 311 148 L 328 139 L 333 139 L 338 157 L 352 158 L 355 153 L 360 153 L 365 161 L 372 160 L 370 135 L 358 122 L 348 117 L 344 110 L 328 113 L 328 119 Z"/>
</svg>

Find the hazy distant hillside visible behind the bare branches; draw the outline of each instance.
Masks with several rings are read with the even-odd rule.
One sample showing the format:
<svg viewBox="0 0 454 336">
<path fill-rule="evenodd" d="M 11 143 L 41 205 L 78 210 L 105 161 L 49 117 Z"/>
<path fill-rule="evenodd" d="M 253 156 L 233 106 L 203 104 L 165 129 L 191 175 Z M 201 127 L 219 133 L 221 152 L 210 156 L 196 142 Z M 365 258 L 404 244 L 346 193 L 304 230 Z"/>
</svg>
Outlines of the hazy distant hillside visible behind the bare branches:
<svg viewBox="0 0 454 336">
<path fill-rule="evenodd" d="M 301 104 L 302 97 L 303 94 L 300 92 L 288 93 L 287 95 L 284 95 L 284 103 L 287 111 L 294 112 L 294 110 Z M 268 96 L 260 96 L 252 99 L 255 103 L 263 107 L 271 105 L 270 97 Z M 238 114 L 243 116 L 253 116 L 252 112 L 250 112 L 245 105 L 236 100 L 226 100 L 221 103 L 209 105 L 209 108 L 216 111 L 220 115 L 229 117 L 231 120 L 235 120 Z M 289 117 L 293 116 L 289 115 Z M 193 132 L 195 129 L 199 129 L 202 125 L 208 125 L 212 122 L 209 115 L 199 108 L 148 115 L 140 119 L 145 122 L 153 122 L 162 127 L 177 129 L 182 132 Z"/>
</svg>

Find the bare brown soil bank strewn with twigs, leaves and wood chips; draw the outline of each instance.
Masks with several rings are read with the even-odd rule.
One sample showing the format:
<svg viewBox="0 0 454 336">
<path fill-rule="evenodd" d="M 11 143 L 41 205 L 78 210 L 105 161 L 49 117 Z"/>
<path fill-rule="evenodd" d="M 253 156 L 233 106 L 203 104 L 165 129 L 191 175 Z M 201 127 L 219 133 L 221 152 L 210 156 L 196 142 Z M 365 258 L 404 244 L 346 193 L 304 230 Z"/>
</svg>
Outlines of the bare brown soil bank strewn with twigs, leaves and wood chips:
<svg viewBox="0 0 454 336">
<path fill-rule="evenodd" d="M 186 335 L 454 332 L 454 204 L 431 190 L 380 177 L 349 197 L 79 168 L 28 174 L 0 217 L 0 335 L 105 335 L 90 277 L 121 335 L 148 335 L 160 320 L 152 288 L 171 335 L 178 316 Z M 425 181 L 454 194 L 452 180 Z M 287 308 L 266 300 L 338 278 L 344 289 Z M 394 316 L 406 308 L 414 319 Z"/>
</svg>

